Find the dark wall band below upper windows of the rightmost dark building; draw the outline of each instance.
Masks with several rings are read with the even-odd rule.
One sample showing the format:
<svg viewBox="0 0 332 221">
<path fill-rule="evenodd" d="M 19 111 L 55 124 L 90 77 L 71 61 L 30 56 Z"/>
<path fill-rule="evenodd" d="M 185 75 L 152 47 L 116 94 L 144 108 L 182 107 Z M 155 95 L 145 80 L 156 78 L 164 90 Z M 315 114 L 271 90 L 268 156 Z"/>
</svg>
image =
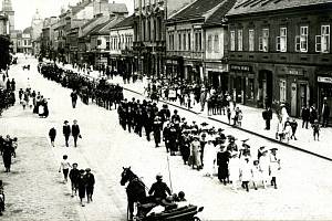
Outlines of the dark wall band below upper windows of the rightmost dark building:
<svg viewBox="0 0 332 221">
<path fill-rule="evenodd" d="M 276 64 L 319 64 L 329 65 L 332 63 L 332 54 L 324 53 L 281 53 L 281 52 L 234 52 L 229 51 L 230 61 L 263 62 Z"/>
</svg>

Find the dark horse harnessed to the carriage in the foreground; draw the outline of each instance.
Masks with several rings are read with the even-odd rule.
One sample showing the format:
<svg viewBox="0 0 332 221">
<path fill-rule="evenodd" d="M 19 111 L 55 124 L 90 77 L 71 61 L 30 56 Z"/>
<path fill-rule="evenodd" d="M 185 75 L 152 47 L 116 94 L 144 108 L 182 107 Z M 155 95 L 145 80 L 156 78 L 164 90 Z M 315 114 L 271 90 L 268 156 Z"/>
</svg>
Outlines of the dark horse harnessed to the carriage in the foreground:
<svg viewBox="0 0 332 221">
<path fill-rule="evenodd" d="M 121 181 L 120 183 L 122 186 L 125 186 L 126 182 L 128 182 L 126 187 L 127 192 L 127 201 L 128 201 L 128 214 L 127 219 L 133 219 L 133 212 L 134 212 L 134 203 L 139 202 L 142 204 L 147 202 L 146 197 L 146 186 L 144 182 L 131 170 L 131 167 L 125 168 L 123 167 L 123 172 L 121 175 Z"/>
</svg>

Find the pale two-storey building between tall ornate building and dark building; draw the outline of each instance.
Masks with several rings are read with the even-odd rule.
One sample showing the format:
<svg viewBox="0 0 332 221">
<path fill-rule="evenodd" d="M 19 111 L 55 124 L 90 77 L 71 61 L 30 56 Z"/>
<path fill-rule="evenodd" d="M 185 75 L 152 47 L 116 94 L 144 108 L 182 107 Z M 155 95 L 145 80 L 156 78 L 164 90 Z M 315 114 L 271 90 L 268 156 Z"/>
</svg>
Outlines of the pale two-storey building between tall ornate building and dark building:
<svg viewBox="0 0 332 221">
<path fill-rule="evenodd" d="M 234 0 L 197 0 L 167 20 L 167 76 L 220 85 L 227 73 L 222 18 Z M 209 80 L 209 81 L 208 81 Z"/>
</svg>

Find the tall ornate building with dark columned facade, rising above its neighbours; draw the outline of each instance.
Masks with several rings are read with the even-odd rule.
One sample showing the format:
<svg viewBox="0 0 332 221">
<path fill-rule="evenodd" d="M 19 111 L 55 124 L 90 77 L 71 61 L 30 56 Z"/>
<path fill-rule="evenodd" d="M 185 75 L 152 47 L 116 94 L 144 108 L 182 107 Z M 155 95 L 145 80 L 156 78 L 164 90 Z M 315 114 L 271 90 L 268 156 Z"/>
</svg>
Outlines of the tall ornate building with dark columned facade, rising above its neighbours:
<svg viewBox="0 0 332 221">
<path fill-rule="evenodd" d="M 134 53 L 139 74 L 164 74 L 166 54 L 165 21 L 193 0 L 135 0 Z"/>
</svg>

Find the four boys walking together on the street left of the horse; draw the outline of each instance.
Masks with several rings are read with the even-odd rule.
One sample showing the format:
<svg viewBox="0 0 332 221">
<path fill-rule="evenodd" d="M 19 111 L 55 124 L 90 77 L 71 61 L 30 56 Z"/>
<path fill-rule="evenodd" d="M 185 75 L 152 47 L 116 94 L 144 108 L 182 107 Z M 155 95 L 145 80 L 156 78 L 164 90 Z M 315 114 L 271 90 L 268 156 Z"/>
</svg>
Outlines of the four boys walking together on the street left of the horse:
<svg viewBox="0 0 332 221">
<path fill-rule="evenodd" d="M 63 183 L 66 183 L 68 178 L 70 178 L 72 189 L 71 197 L 73 198 L 79 192 L 81 206 L 85 207 L 85 196 L 87 203 L 92 202 L 95 179 L 90 168 L 79 169 L 77 167 L 79 165 L 76 162 L 70 164 L 68 156 L 63 155 L 59 172 L 63 173 Z"/>
</svg>

